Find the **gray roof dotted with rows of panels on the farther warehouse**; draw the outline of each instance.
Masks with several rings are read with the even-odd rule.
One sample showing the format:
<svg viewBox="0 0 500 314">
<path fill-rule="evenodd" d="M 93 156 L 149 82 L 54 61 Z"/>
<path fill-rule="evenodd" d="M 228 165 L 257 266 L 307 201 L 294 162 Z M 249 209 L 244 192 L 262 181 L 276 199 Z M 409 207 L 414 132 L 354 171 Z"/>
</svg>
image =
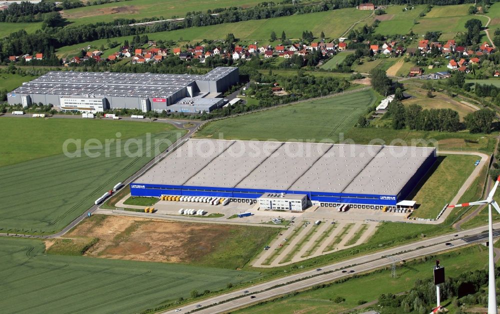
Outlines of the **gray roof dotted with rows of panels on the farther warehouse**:
<svg viewBox="0 0 500 314">
<path fill-rule="evenodd" d="M 217 80 L 237 67 L 216 67 L 204 75 L 50 71 L 11 93 L 167 97 L 196 80 Z"/>
</svg>

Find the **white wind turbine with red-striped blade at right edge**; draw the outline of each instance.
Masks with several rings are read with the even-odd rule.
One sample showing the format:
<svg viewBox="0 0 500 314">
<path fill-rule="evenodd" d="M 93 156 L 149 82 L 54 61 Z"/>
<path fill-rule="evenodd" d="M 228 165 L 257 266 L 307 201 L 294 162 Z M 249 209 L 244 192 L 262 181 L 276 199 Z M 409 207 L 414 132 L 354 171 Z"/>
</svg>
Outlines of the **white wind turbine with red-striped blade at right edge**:
<svg viewBox="0 0 500 314">
<path fill-rule="evenodd" d="M 488 194 L 488 197 L 484 200 L 478 200 L 478 201 L 471 201 L 469 203 L 462 203 L 462 204 L 456 204 L 456 205 L 449 205 L 448 207 L 466 207 L 466 206 L 473 206 L 473 205 L 485 205 L 488 204 L 488 231 L 489 231 L 489 245 L 488 245 L 488 252 L 489 252 L 489 264 L 488 264 L 488 314 L 496 314 L 497 309 L 496 309 L 496 287 L 495 287 L 495 264 L 494 264 L 494 259 L 493 259 L 493 221 L 491 218 L 491 205 L 495 207 L 496 211 L 500 213 L 500 206 L 498 206 L 498 203 L 493 199 L 493 195 L 495 194 L 496 187 L 498 187 L 498 182 L 500 182 L 500 176 L 496 179 L 495 184 L 493 185 L 493 188 Z"/>
</svg>

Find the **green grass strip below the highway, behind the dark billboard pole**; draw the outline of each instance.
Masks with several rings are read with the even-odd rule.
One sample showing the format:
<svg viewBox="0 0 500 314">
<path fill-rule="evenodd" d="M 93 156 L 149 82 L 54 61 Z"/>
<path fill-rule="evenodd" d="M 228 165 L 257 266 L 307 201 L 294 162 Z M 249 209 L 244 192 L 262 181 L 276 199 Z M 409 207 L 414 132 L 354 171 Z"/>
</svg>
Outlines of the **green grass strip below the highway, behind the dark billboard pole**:
<svg viewBox="0 0 500 314">
<path fill-rule="evenodd" d="M 357 278 L 349 278 L 344 282 L 333 283 L 330 286 L 316 290 L 306 290 L 296 295 L 286 295 L 282 298 L 257 304 L 233 313 L 338 313 L 353 308 L 358 301 L 373 301 L 381 293 L 398 293 L 411 289 L 416 279 L 430 278 L 434 259 L 439 259 L 446 267 L 446 276 L 457 276 L 464 271 L 483 269 L 487 262 L 487 249 L 480 245 L 458 249 L 450 253 L 442 253 L 425 262 L 397 265 L 396 278 L 391 278 L 390 267 L 378 272 L 372 272 Z M 355 267 L 353 267 L 355 269 Z M 362 288 L 360 288 L 362 287 Z M 332 300 L 340 296 L 345 301 L 335 303 Z M 441 304 L 443 302 L 441 300 Z M 450 304 L 451 305 L 451 304 Z M 376 304 L 372 307 L 376 307 Z M 450 306 L 446 305 L 447 308 Z M 378 311 L 384 313 L 379 307 Z M 367 310 L 367 309 L 366 309 Z M 362 311 L 362 310 L 361 310 Z M 356 311 L 357 312 L 357 311 Z"/>
</svg>

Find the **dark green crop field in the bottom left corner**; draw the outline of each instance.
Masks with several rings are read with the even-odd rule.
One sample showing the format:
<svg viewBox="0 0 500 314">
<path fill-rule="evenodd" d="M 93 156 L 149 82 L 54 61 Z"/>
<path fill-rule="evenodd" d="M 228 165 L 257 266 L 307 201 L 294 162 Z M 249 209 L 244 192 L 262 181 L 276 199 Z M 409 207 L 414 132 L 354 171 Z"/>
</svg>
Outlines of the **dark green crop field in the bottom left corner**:
<svg viewBox="0 0 500 314">
<path fill-rule="evenodd" d="M 137 313 L 219 290 L 257 272 L 44 254 L 42 241 L 0 238 L 0 304 L 13 313 Z"/>
</svg>

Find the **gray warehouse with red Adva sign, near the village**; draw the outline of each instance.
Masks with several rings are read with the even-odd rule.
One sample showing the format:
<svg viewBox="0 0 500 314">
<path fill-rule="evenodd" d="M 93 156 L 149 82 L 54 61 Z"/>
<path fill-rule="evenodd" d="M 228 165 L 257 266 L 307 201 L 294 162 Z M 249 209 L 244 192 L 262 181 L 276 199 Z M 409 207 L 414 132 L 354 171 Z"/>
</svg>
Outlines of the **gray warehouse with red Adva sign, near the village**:
<svg viewBox="0 0 500 314">
<path fill-rule="evenodd" d="M 9 104 L 53 104 L 63 111 L 114 108 L 209 112 L 223 105 L 220 93 L 238 83 L 237 67 L 204 75 L 51 71 L 7 94 Z"/>
</svg>

